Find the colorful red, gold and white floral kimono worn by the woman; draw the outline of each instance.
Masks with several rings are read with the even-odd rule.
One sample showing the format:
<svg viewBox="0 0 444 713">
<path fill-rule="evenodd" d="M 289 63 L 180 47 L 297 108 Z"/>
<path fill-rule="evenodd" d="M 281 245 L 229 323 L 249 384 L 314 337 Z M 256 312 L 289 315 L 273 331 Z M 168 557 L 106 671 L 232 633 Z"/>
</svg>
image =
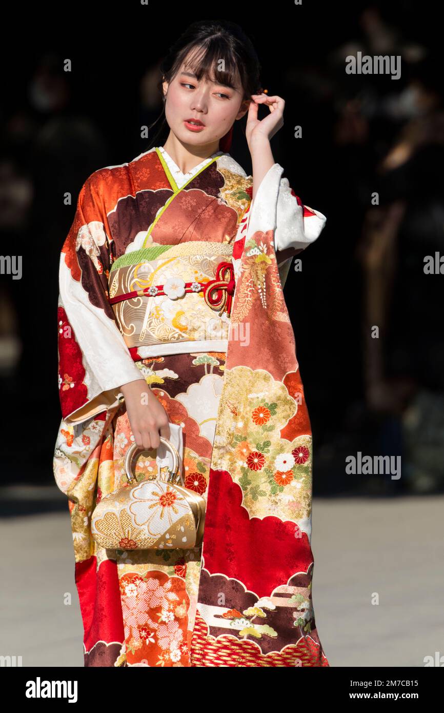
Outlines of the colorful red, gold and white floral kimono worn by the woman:
<svg viewBox="0 0 444 713">
<path fill-rule="evenodd" d="M 252 203 L 252 176 L 228 153 L 183 176 L 153 148 L 81 189 L 61 250 L 53 468 L 86 666 L 329 666 L 311 597 L 311 426 L 282 289 L 291 258 L 276 255 L 314 242 L 326 217 L 282 172 Z M 122 549 L 91 536 L 95 504 L 127 481 L 120 387 L 143 378 L 182 429 L 185 487 L 206 501 L 198 548 L 132 550 L 117 518 Z M 162 477 L 155 450 L 135 474 Z"/>
</svg>

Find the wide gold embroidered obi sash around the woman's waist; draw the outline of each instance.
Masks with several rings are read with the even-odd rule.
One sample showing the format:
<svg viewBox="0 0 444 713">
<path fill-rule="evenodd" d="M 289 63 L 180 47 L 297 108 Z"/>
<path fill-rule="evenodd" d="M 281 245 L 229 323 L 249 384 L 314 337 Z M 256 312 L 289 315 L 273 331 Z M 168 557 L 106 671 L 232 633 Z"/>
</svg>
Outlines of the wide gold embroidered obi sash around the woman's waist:
<svg viewBox="0 0 444 713">
<path fill-rule="evenodd" d="M 227 350 L 233 246 L 188 241 L 118 257 L 109 302 L 128 349 L 140 356 Z"/>
</svg>

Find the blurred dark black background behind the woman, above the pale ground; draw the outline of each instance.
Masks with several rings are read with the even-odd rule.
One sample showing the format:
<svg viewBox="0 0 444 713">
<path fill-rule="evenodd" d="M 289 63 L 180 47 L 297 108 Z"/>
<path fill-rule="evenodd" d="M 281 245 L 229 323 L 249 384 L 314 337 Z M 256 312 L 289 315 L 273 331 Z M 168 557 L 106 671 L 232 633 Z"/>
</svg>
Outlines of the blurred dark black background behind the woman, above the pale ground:
<svg viewBox="0 0 444 713">
<path fill-rule="evenodd" d="M 0 252 L 22 255 L 23 273 L 0 276 L 0 485 L 56 487 L 58 261 L 78 191 L 93 171 L 147 150 L 140 126 L 161 111 L 162 54 L 190 22 L 222 18 L 249 34 L 263 86 L 286 102 L 274 159 L 327 217 L 284 291 L 314 435 L 314 495 L 442 491 L 444 275 L 423 273 L 425 255 L 444 253 L 438 6 L 194 7 L 26 6 L 34 34 L 1 51 Z M 346 74 L 358 50 L 401 55 L 401 78 Z M 245 120 L 229 153 L 250 173 Z M 402 456 L 401 479 L 347 475 L 357 451 Z"/>
</svg>

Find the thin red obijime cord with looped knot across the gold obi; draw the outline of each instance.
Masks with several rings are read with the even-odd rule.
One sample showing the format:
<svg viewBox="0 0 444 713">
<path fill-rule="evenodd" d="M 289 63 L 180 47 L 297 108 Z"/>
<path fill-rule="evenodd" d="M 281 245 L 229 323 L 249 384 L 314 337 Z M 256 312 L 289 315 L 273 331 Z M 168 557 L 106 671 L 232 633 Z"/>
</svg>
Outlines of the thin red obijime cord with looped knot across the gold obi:
<svg viewBox="0 0 444 713">
<path fill-rule="evenodd" d="M 160 294 L 167 294 L 164 292 L 163 287 L 163 284 L 157 284 L 144 289 L 135 289 L 133 292 L 125 292 L 124 294 L 118 294 L 117 297 L 111 297 L 108 302 L 116 304 L 134 297 L 157 297 Z M 224 310 L 227 314 L 230 314 L 234 287 L 232 262 L 220 262 L 216 268 L 215 279 L 210 279 L 209 282 L 185 282 L 185 292 L 203 292 L 205 302 L 212 309 L 218 309 L 220 315 Z"/>
</svg>

